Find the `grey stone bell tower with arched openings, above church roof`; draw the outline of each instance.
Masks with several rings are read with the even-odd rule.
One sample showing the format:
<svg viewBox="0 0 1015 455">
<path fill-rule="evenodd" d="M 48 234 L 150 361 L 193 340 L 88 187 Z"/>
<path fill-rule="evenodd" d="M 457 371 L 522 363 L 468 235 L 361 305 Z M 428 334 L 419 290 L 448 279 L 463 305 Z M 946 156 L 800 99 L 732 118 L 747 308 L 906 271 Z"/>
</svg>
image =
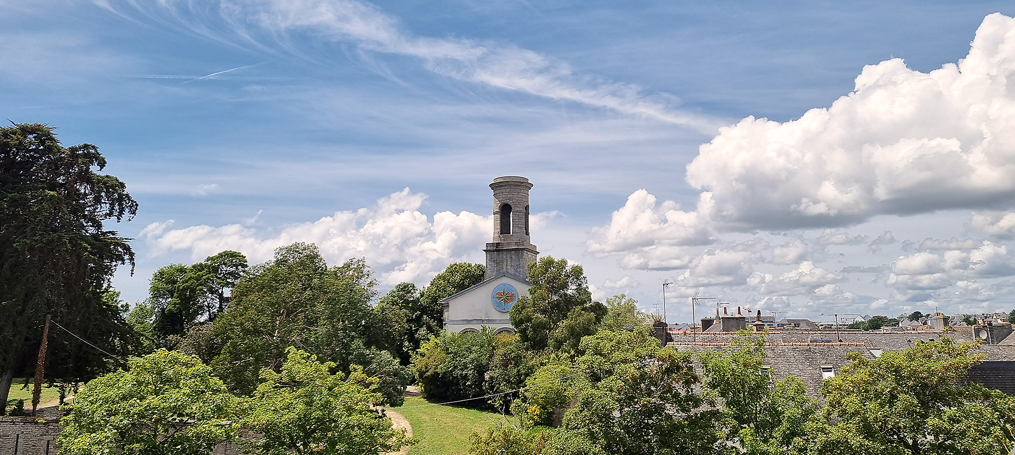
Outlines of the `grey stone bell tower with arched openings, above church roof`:
<svg viewBox="0 0 1015 455">
<path fill-rule="evenodd" d="M 525 266 L 536 261 L 539 252 L 529 239 L 529 190 L 525 177 L 493 179 L 493 242 L 486 244 L 486 278 L 507 273 L 526 279 Z"/>
</svg>

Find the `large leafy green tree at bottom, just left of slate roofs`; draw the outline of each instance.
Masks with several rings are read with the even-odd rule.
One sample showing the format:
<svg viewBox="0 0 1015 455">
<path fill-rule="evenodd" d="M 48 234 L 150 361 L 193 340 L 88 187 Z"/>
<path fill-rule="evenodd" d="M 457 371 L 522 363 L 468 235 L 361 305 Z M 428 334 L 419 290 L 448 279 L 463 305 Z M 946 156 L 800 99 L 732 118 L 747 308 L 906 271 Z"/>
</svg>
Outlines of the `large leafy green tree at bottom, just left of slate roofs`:
<svg viewBox="0 0 1015 455">
<path fill-rule="evenodd" d="M 709 453 L 721 447 L 717 411 L 696 390 L 693 356 L 661 347 L 649 330 L 600 331 L 582 340 L 576 364 L 591 386 L 563 429 L 611 454 Z"/>
</svg>

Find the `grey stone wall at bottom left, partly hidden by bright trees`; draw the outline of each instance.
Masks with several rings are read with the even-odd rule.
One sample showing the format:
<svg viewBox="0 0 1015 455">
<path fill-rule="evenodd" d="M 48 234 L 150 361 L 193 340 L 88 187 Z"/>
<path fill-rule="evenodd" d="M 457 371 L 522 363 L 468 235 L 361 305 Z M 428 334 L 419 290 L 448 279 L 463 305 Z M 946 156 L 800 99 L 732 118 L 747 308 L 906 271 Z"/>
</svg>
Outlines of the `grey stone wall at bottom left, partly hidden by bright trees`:
<svg viewBox="0 0 1015 455">
<path fill-rule="evenodd" d="M 60 419 L 0 417 L 0 455 L 56 455 Z M 219 444 L 213 455 L 241 455 L 235 446 Z"/>
</svg>

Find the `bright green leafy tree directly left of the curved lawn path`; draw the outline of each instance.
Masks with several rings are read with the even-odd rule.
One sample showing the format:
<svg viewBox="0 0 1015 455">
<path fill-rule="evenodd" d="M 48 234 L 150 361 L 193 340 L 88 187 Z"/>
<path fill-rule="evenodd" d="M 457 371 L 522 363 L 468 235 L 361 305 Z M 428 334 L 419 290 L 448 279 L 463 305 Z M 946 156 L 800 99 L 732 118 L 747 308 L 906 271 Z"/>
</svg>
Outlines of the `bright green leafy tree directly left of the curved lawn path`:
<svg viewBox="0 0 1015 455">
<path fill-rule="evenodd" d="M 381 395 L 370 392 L 376 378 L 353 367 L 345 376 L 331 374 L 333 363 L 294 347 L 286 349 L 281 371 L 264 370 L 243 419 L 258 438 L 245 441 L 264 455 L 353 455 L 398 450 L 412 441 L 404 430 L 370 407 Z"/>
</svg>

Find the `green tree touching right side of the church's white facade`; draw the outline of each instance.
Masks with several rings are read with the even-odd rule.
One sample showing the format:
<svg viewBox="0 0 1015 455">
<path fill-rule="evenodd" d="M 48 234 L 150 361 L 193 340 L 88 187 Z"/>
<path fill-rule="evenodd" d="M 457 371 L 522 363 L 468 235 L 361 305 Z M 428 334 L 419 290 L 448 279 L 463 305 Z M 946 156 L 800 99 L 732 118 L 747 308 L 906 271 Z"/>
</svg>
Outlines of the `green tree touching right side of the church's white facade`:
<svg viewBox="0 0 1015 455">
<path fill-rule="evenodd" d="M 532 350 L 574 351 L 583 336 L 596 332 L 606 306 L 592 300 L 581 265 L 547 256 L 528 267 L 532 286 L 512 307 L 512 325 Z"/>
</svg>

